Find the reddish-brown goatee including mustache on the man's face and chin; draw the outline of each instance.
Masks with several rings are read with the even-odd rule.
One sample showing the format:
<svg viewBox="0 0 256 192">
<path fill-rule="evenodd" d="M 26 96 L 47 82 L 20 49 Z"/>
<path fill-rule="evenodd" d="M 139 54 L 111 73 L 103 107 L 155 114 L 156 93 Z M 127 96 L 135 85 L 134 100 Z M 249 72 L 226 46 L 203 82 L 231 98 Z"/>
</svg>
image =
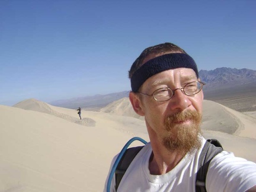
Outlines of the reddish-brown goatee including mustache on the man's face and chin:
<svg viewBox="0 0 256 192">
<path fill-rule="evenodd" d="M 190 125 L 177 122 L 190 120 Z M 201 114 L 197 111 L 187 110 L 176 113 L 165 119 L 165 129 L 168 135 L 162 139 L 162 144 L 169 151 L 178 151 L 180 153 L 193 153 L 200 149 L 201 140 L 199 135 Z"/>
</svg>

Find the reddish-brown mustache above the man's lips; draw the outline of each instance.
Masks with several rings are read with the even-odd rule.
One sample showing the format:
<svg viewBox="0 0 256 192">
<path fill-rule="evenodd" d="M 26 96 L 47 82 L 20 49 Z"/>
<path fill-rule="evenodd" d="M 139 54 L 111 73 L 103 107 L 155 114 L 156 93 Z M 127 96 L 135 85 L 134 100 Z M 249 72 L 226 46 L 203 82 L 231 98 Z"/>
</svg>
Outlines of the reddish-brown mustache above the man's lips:
<svg viewBox="0 0 256 192">
<path fill-rule="evenodd" d="M 201 114 L 197 111 L 187 110 L 181 111 L 179 113 L 175 113 L 172 116 L 167 117 L 167 124 L 172 124 L 177 121 L 185 121 L 185 120 L 194 120 L 194 121 L 201 121 Z"/>
</svg>

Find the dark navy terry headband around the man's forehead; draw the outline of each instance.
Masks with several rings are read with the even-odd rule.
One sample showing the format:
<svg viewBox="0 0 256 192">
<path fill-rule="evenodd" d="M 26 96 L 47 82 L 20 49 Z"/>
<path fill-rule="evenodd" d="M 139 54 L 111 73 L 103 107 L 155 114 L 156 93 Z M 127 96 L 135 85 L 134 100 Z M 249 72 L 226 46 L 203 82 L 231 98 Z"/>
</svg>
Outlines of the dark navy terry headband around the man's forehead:
<svg viewBox="0 0 256 192">
<path fill-rule="evenodd" d="M 199 72 L 194 59 L 185 53 L 169 53 L 155 57 L 148 62 L 144 63 L 131 78 L 132 91 L 137 92 L 140 86 L 151 76 L 167 71 L 169 69 L 176 68 L 190 68 L 196 72 L 197 78 L 199 78 Z"/>
</svg>

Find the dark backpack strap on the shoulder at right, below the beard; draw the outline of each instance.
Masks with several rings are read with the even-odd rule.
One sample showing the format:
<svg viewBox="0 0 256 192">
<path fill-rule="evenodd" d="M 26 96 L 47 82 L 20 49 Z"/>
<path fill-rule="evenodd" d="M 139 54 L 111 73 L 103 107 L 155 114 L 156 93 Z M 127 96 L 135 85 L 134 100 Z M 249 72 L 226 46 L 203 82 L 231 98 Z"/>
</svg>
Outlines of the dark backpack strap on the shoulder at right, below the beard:
<svg viewBox="0 0 256 192">
<path fill-rule="evenodd" d="M 196 191 L 206 192 L 206 175 L 210 161 L 223 151 L 222 145 L 217 139 L 208 139 L 199 156 L 199 168 L 197 170 Z"/>
</svg>

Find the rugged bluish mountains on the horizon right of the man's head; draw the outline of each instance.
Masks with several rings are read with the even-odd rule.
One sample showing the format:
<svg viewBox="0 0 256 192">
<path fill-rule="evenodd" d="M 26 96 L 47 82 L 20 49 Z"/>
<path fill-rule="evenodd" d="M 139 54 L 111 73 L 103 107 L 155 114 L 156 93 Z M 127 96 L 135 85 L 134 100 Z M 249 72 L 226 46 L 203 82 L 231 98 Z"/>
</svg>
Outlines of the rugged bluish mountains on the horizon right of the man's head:
<svg viewBox="0 0 256 192">
<path fill-rule="evenodd" d="M 217 68 L 199 71 L 199 78 L 206 82 L 208 88 L 256 82 L 256 71 L 251 69 Z"/>
</svg>

